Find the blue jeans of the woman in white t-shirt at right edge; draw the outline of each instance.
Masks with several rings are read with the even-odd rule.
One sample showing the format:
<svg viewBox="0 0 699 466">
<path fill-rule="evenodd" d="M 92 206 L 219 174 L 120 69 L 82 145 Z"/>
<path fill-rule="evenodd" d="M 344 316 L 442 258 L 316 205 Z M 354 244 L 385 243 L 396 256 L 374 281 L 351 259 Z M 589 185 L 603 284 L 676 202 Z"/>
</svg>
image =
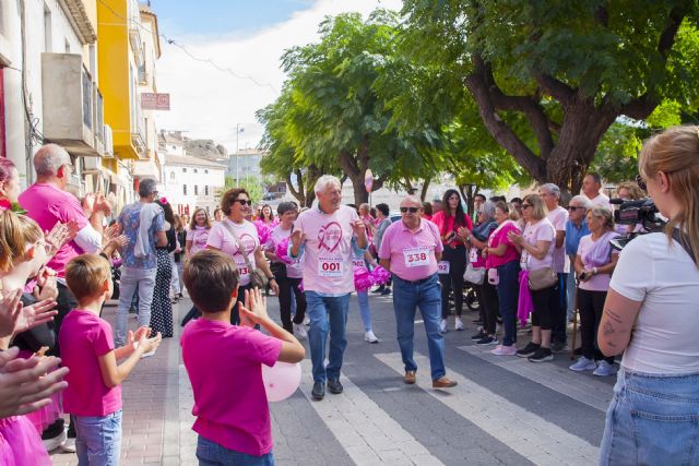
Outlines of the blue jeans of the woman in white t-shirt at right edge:
<svg viewBox="0 0 699 466">
<path fill-rule="evenodd" d="M 699 373 L 618 372 L 600 465 L 699 464 Z"/>
</svg>

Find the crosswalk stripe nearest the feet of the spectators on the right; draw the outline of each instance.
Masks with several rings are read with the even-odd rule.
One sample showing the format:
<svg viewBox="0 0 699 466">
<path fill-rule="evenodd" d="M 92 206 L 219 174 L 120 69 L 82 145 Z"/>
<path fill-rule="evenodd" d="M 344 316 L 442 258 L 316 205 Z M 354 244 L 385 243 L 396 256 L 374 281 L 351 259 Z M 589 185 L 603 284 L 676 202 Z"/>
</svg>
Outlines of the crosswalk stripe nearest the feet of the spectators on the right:
<svg viewBox="0 0 699 466">
<path fill-rule="evenodd" d="M 544 385 L 603 413 L 607 410 L 614 395 L 611 385 L 594 380 L 592 375 L 577 373 L 556 365 L 534 365 L 524 358 L 495 356 L 490 354 L 493 348 L 493 346 L 478 347 L 475 345 L 459 347 L 462 351 L 466 351 L 484 361 Z"/>
</svg>

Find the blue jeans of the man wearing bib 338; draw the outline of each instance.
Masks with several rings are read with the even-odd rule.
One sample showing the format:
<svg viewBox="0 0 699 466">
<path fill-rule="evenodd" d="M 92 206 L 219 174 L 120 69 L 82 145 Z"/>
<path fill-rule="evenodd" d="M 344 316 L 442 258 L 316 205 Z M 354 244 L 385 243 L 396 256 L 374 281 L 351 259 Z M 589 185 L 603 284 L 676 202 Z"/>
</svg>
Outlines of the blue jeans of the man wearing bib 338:
<svg viewBox="0 0 699 466">
<path fill-rule="evenodd" d="M 445 369 L 445 337 L 439 332 L 441 320 L 441 285 L 437 274 L 419 282 L 406 282 L 393 275 L 393 311 L 398 330 L 398 346 L 406 371 L 416 371 L 413 359 L 415 308 L 419 308 L 425 322 L 429 367 L 433 380 L 442 378 Z"/>
</svg>

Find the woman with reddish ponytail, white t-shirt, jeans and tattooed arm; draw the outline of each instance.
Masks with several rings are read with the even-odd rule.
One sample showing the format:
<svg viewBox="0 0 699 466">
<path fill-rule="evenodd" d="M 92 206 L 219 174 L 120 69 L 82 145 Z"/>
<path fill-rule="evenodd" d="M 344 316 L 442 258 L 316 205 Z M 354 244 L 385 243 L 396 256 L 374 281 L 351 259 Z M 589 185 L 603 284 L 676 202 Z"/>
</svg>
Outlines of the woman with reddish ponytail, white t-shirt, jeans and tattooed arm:
<svg viewBox="0 0 699 466">
<path fill-rule="evenodd" d="M 639 172 L 665 232 L 619 254 L 597 334 L 624 353 L 600 464 L 699 464 L 699 127 L 645 142 Z"/>
</svg>

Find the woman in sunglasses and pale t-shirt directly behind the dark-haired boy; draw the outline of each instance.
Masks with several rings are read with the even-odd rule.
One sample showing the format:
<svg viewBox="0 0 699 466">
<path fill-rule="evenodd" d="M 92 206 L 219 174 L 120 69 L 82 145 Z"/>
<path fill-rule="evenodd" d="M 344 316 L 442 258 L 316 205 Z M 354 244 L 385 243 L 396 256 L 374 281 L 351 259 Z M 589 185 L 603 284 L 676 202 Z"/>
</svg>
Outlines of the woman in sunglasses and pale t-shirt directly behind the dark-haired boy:
<svg viewBox="0 0 699 466">
<path fill-rule="evenodd" d="M 238 300 L 230 312 L 230 323 L 238 325 L 240 321 L 238 308 L 245 298 L 245 290 L 252 288 L 251 268 L 260 268 L 264 273 L 270 280 L 270 287 L 277 296 L 280 287 L 264 259 L 258 229 L 251 222 L 246 220 L 246 217 L 250 215 L 252 204 L 245 188 L 233 188 L 224 192 L 221 199 L 221 210 L 226 217 L 211 227 L 206 248 L 217 249 L 236 261 L 240 273 L 240 286 L 238 287 Z"/>
</svg>

